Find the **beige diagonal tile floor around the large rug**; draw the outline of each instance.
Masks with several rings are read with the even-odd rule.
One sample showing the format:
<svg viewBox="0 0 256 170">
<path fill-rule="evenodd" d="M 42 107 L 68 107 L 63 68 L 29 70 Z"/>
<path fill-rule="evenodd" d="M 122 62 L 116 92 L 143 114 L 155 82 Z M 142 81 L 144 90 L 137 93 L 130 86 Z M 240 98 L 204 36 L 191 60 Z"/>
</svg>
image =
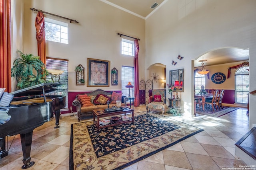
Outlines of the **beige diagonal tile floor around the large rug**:
<svg viewBox="0 0 256 170">
<path fill-rule="evenodd" d="M 134 109 L 135 112 L 146 110 L 145 106 Z M 219 118 L 205 115 L 196 115 L 190 119 L 172 118 L 204 131 L 132 164 L 125 170 L 220 170 L 245 165 L 235 156 L 234 144 L 249 130 L 246 109 L 237 109 Z M 31 157 L 35 164 L 29 170 L 69 169 L 70 127 L 73 123 L 78 123 L 76 114 L 73 117 L 63 114 L 60 128 L 54 129 L 53 120 L 33 131 Z M 9 155 L 0 159 L 0 170 L 21 169 L 23 156 L 20 136 L 8 137 L 8 147 Z"/>
</svg>

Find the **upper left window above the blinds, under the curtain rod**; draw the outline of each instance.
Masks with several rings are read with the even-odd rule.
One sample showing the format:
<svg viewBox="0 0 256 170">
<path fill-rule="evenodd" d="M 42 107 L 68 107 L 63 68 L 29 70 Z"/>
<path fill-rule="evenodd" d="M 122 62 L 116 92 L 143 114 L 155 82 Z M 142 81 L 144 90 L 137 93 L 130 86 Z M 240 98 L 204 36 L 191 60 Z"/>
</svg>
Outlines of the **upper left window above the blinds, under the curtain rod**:
<svg viewBox="0 0 256 170">
<path fill-rule="evenodd" d="M 45 39 L 68 44 L 68 23 L 45 18 Z"/>
</svg>

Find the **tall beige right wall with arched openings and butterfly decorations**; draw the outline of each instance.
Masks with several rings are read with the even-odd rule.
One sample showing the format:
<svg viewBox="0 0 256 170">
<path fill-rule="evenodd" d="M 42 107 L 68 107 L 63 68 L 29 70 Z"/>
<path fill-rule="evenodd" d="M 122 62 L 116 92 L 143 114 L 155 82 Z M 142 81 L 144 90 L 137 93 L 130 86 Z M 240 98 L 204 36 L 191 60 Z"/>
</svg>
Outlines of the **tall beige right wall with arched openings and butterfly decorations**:
<svg viewBox="0 0 256 170">
<path fill-rule="evenodd" d="M 256 63 L 255 6 L 255 0 L 169 0 L 146 19 L 146 67 L 166 64 L 166 73 L 184 68 L 184 92 L 180 96 L 185 116 L 194 115 L 192 60 L 213 49 L 239 47 L 250 49 L 250 65 Z M 178 61 L 178 55 L 184 59 Z M 172 60 L 178 63 L 174 66 Z M 250 72 L 256 68 L 251 67 Z M 255 83 L 255 76 L 250 74 L 250 91 L 255 90 Z M 256 109 L 255 102 L 256 96 L 250 95 L 250 110 Z M 252 127 L 256 113 L 249 116 Z"/>
</svg>

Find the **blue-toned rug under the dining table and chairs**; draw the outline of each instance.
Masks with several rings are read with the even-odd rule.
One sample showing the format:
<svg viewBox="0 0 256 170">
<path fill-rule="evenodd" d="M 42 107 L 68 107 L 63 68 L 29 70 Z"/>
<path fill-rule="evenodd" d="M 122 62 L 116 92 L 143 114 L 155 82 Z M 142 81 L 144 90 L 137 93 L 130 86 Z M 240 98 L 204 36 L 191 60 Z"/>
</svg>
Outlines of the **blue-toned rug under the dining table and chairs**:
<svg viewBox="0 0 256 170">
<path fill-rule="evenodd" d="M 220 107 L 221 108 L 221 107 Z M 196 113 L 201 114 L 201 115 L 208 115 L 208 116 L 212 116 L 212 117 L 220 117 L 222 115 L 226 115 L 227 113 L 230 113 L 231 111 L 234 111 L 236 109 L 239 109 L 239 107 L 227 107 L 227 106 L 223 106 L 223 109 L 219 109 L 216 110 L 216 108 L 214 107 L 215 111 L 212 111 L 212 106 L 210 107 L 204 107 L 204 111 L 202 109 L 202 107 L 200 108 L 196 108 Z"/>
</svg>

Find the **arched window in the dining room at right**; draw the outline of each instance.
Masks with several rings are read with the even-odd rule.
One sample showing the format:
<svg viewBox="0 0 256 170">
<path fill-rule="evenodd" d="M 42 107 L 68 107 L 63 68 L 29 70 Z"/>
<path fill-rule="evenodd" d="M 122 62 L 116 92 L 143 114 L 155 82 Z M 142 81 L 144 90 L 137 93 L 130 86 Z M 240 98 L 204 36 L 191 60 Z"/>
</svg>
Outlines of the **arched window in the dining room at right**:
<svg viewBox="0 0 256 170">
<path fill-rule="evenodd" d="M 241 104 L 248 103 L 249 93 L 249 67 L 242 67 L 235 73 L 235 102 Z"/>
</svg>

